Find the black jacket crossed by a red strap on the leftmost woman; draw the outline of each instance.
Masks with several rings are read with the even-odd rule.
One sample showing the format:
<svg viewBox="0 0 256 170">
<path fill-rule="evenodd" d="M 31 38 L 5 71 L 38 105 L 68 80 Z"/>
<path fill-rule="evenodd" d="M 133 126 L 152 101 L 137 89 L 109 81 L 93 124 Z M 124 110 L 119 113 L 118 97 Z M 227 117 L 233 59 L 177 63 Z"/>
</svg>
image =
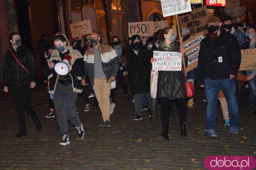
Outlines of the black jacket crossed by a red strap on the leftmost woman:
<svg viewBox="0 0 256 170">
<path fill-rule="evenodd" d="M 27 47 L 20 46 L 14 51 L 13 54 L 17 57 L 18 61 L 30 72 L 25 71 L 24 68 L 14 59 L 10 50 L 6 51 L 4 57 L 4 73 L 3 73 L 3 86 L 8 85 L 24 85 L 31 82 L 36 82 L 36 64 L 32 52 Z"/>
</svg>

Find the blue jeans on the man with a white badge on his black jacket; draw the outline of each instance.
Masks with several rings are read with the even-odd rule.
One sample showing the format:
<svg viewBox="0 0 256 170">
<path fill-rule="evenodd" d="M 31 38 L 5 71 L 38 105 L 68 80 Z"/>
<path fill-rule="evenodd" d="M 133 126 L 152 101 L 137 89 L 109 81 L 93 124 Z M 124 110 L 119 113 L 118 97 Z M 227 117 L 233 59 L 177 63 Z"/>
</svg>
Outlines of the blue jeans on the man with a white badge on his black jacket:
<svg viewBox="0 0 256 170">
<path fill-rule="evenodd" d="M 216 130 L 216 117 L 217 117 L 217 100 L 220 89 L 223 91 L 228 103 L 228 113 L 230 118 L 230 125 L 238 126 L 239 123 L 239 109 L 234 93 L 234 78 L 231 80 L 219 79 L 212 80 L 210 78 L 204 79 L 204 88 L 206 93 L 207 107 L 207 128 Z"/>
</svg>

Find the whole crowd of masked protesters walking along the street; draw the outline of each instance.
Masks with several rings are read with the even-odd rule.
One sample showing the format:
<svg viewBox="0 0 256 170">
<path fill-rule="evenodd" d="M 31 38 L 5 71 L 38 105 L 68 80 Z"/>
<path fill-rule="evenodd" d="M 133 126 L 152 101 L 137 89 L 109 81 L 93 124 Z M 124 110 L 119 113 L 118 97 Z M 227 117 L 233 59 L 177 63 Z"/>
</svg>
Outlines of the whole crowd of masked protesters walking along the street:
<svg viewBox="0 0 256 170">
<path fill-rule="evenodd" d="M 239 20 L 238 20 L 239 21 Z M 212 16 L 207 20 L 208 34 L 200 43 L 198 66 L 187 73 L 191 81 L 204 89 L 206 107 L 206 129 L 204 136 L 217 137 L 216 105 L 219 100 L 224 116 L 224 126 L 230 126 L 230 134 L 238 134 L 239 97 L 241 82 L 248 81 L 252 101 L 256 106 L 256 69 L 238 71 L 241 62 L 240 49 L 256 47 L 256 27 L 233 23 L 230 16 L 222 20 Z M 180 52 L 184 55 L 184 65 L 188 57 L 180 44 L 191 38 L 188 28 L 181 28 L 182 39 L 173 28 L 164 28 L 152 37 L 133 35 L 123 44 L 118 36 L 113 36 L 110 45 L 104 44 L 98 32 L 83 37 L 71 44 L 65 34 L 58 32 L 52 43 L 47 35 L 37 43 L 41 66 L 49 93 L 49 113 L 46 118 L 57 117 L 58 130 L 62 135 L 60 145 L 70 144 L 68 123 L 72 123 L 78 132 L 78 138 L 84 137 L 83 124 L 76 108 L 78 93 L 82 93 L 84 111 L 90 110 L 89 98 L 94 98 L 93 111 L 101 111 L 101 127 L 111 127 L 110 115 L 114 112 L 116 86 L 123 89 L 124 102 L 134 102 L 135 121 L 142 120 L 142 112 L 154 116 L 155 99 L 151 98 L 150 73 L 152 63 L 157 59 L 153 51 Z M 36 65 L 32 52 L 22 45 L 18 33 L 10 34 L 11 49 L 4 58 L 4 91 L 12 89 L 16 105 L 19 132 L 15 136 L 27 134 L 24 111 L 30 115 L 37 130 L 41 130 L 40 120 L 30 99 L 36 86 Z M 71 56 L 67 75 L 59 75 L 54 67 L 67 55 Z M 176 103 L 180 118 L 180 134 L 187 136 L 186 113 L 192 109 L 193 97 L 186 94 L 186 78 L 182 71 L 158 71 L 157 100 L 161 109 L 162 133 L 159 140 L 169 141 L 169 115 L 173 102 Z M 131 95 L 124 77 L 130 80 Z M 116 78 L 118 83 L 116 83 Z M 90 95 L 87 94 L 90 89 Z M 54 111 L 55 110 L 55 111 Z M 254 114 L 256 111 L 254 112 Z"/>
</svg>

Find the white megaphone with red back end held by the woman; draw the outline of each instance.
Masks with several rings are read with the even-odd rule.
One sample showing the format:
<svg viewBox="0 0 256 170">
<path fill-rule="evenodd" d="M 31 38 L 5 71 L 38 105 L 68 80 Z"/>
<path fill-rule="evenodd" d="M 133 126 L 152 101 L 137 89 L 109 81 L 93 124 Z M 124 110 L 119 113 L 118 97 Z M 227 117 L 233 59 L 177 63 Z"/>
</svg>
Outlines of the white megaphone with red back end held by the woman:
<svg viewBox="0 0 256 170">
<path fill-rule="evenodd" d="M 62 61 L 54 65 L 54 71 L 60 76 L 68 75 L 69 73 L 68 64 L 70 63 L 70 60 L 71 60 L 71 56 L 66 55 Z"/>
</svg>

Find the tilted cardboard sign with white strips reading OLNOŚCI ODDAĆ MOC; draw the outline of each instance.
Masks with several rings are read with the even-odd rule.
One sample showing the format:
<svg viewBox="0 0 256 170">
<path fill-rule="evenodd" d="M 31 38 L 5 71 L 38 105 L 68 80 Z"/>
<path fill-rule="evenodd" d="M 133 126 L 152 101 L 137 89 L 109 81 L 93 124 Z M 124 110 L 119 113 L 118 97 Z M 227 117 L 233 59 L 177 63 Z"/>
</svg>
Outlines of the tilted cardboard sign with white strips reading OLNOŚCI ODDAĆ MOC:
<svg viewBox="0 0 256 170">
<path fill-rule="evenodd" d="M 198 64 L 198 54 L 200 50 L 200 42 L 204 39 L 204 34 L 200 32 L 190 39 L 183 42 L 183 47 L 185 48 L 185 54 L 188 57 L 188 67 L 186 71 L 190 71 L 197 67 Z"/>
</svg>

